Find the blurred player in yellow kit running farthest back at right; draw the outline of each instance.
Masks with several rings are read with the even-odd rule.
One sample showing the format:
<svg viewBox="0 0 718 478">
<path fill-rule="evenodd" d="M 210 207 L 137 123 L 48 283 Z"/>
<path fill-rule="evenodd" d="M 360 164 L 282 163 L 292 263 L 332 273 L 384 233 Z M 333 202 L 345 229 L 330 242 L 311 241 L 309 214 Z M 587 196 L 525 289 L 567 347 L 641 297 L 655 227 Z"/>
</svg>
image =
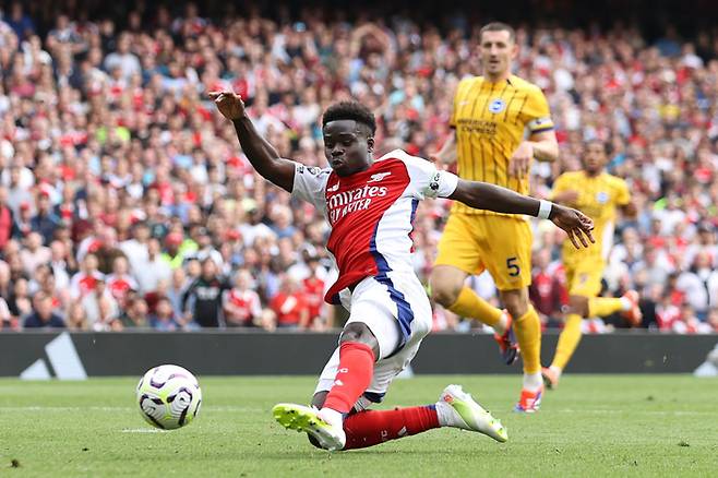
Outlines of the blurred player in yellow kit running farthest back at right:
<svg viewBox="0 0 718 478">
<path fill-rule="evenodd" d="M 582 160 L 583 170 L 559 176 L 551 193 L 553 201 L 581 208 L 594 219 L 596 243 L 585 250 L 575 250 L 567 240 L 563 243 L 561 253 L 566 268 L 569 313 L 553 362 L 542 370 L 543 382 L 550 389 L 559 384 L 561 372 L 581 340 L 583 318 L 622 311 L 623 316 L 634 325 L 641 322 L 638 294 L 635 290 L 627 291 L 621 298 L 597 297 L 601 291 L 606 258 L 611 249 L 617 210 L 631 217 L 636 214 L 636 207 L 631 202 L 625 181 L 603 171 L 607 154 L 602 142 L 588 143 Z"/>
</svg>

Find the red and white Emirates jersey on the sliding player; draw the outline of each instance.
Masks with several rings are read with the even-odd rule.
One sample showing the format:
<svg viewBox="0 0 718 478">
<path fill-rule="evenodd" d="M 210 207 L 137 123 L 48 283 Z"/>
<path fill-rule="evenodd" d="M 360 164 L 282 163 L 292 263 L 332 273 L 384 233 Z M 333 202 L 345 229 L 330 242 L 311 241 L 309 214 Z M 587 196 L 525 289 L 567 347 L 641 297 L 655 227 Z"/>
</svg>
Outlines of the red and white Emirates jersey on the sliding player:
<svg viewBox="0 0 718 478">
<path fill-rule="evenodd" d="M 458 183 L 455 175 L 402 150 L 349 177 L 299 163 L 295 168 L 292 195 L 312 203 L 332 227 L 326 249 L 339 276 L 324 297 L 330 303 L 339 303 L 339 291 L 364 277 L 414 274 L 410 234 L 417 205 L 424 198 L 450 196 Z"/>
</svg>

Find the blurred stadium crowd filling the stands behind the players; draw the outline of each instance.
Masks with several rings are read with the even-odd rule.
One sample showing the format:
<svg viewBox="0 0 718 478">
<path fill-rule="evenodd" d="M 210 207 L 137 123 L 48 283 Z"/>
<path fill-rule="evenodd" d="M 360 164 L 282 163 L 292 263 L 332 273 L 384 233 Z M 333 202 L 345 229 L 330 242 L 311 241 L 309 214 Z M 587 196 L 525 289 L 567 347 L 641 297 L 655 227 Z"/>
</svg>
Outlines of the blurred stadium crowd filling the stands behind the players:
<svg viewBox="0 0 718 478">
<path fill-rule="evenodd" d="M 195 4 L 112 17 L 57 15 L 40 35 L 23 2 L 0 13 L 0 326 L 324 330 L 333 280 L 316 212 L 266 183 L 207 92 L 234 88 L 285 157 L 324 166 L 322 110 L 354 97 L 379 119 L 378 154 L 429 157 L 455 85 L 480 72 L 478 28 L 408 17 L 210 20 Z M 83 19 L 82 21 L 77 19 Z M 586 140 L 638 205 L 621 218 L 605 295 L 643 295 L 644 326 L 718 332 L 718 35 L 671 28 L 519 28 L 515 73 L 547 94 L 561 159 L 532 193 L 579 167 Z M 417 213 L 426 278 L 448 201 Z M 531 297 L 547 326 L 566 302 L 561 232 L 537 223 Z M 498 300 L 490 276 L 471 279 Z M 436 309 L 435 328 L 472 326 Z M 627 326 L 587 321 L 590 331 Z"/>
</svg>

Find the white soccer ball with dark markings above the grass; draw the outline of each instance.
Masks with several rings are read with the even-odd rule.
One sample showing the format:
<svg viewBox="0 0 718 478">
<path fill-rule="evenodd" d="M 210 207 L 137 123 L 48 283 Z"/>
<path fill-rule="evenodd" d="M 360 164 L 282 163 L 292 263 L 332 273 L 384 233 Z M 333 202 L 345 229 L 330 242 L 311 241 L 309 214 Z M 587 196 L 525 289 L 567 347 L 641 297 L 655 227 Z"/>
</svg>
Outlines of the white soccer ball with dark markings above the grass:
<svg viewBox="0 0 718 478">
<path fill-rule="evenodd" d="M 181 367 L 154 367 L 137 384 L 137 403 L 147 423 L 175 430 L 200 413 L 202 390 L 194 375 Z"/>
</svg>

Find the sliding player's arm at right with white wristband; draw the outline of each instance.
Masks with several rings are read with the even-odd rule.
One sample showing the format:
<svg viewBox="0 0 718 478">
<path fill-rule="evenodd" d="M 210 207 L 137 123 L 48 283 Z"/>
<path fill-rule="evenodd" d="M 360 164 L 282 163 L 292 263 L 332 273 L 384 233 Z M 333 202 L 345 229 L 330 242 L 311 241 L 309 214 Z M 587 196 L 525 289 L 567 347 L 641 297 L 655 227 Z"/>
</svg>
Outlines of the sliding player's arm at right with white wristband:
<svg viewBox="0 0 718 478">
<path fill-rule="evenodd" d="M 576 249 L 581 249 L 582 244 L 587 248 L 589 242 L 595 242 L 591 234 L 594 222 L 581 211 L 549 201 L 539 201 L 500 186 L 459 179 L 456 190 L 448 198 L 477 210 L 526 214 L 550 219 L 566 231 Z"/>
</svg>

